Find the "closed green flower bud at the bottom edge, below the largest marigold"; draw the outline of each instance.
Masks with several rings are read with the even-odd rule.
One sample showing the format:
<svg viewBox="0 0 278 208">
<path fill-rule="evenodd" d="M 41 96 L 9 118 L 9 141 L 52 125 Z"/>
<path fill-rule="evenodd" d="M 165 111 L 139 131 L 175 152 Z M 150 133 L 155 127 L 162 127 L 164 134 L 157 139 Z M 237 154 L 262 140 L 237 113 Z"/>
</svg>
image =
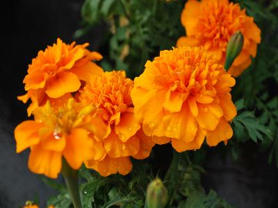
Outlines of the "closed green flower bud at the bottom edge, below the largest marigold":
<svg viewBox="0 0 278 208">
<path fill-rule="evenodd" d="M 159 178 L 153 180 L 147 187 L 147 207 L 163 208 L 167 204 L 167 189 Z"/>
</svg>

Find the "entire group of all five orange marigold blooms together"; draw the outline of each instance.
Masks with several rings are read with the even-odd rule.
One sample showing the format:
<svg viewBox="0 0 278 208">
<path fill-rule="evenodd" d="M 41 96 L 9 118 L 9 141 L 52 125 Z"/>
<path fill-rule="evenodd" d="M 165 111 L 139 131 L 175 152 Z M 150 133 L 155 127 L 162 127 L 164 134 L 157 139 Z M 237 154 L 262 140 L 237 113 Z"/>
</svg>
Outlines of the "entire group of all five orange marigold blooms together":
<svg viewBox="0 0 278 208">
<path fill-rule="evenodd" d="M 181 22 L 187 36 L 147 61 L 134 82 L 124 71 L 104 72 L 92 62 L 102 56 L 88 44 L 58 39 L 40 51 L 19 96 L 24 103 L 31 99 L 27 112 L 34 120 L 15 128 L 17 153 L 31 149 L 31 171 L 57 177 L 65 159 L 75 170 L 84 163 L 103 176 L 126 175 L 131 157 L 149 157 L 154 144 L 171 142 L 178 152 L 200 148 L 205 138 L 208 146 L 227 144 L 236 116 L 232 76 L 250 65 L 261 31 L 228 0 L 190 0 Z M 237 31 L 243 50 L 227 73 L 227 42 Z"/>
</svg>

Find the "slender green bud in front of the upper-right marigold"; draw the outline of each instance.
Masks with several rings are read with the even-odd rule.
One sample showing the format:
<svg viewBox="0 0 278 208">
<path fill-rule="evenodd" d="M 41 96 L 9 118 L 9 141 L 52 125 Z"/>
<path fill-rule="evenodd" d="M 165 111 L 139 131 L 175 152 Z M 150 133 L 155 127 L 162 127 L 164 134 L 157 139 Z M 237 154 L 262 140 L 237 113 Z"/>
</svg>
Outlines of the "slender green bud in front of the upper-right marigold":
<svg viewBox="0 0 278 208">
<path fill-rule="evenodd" d="M 231 35 L 231 38 L 227 45 L 226 61 L 224 64 L 224 69 L 228 70 L 233 64 L 234 60 L 243 49 L 244 37 L 240 31 Z"/>
</svg>

